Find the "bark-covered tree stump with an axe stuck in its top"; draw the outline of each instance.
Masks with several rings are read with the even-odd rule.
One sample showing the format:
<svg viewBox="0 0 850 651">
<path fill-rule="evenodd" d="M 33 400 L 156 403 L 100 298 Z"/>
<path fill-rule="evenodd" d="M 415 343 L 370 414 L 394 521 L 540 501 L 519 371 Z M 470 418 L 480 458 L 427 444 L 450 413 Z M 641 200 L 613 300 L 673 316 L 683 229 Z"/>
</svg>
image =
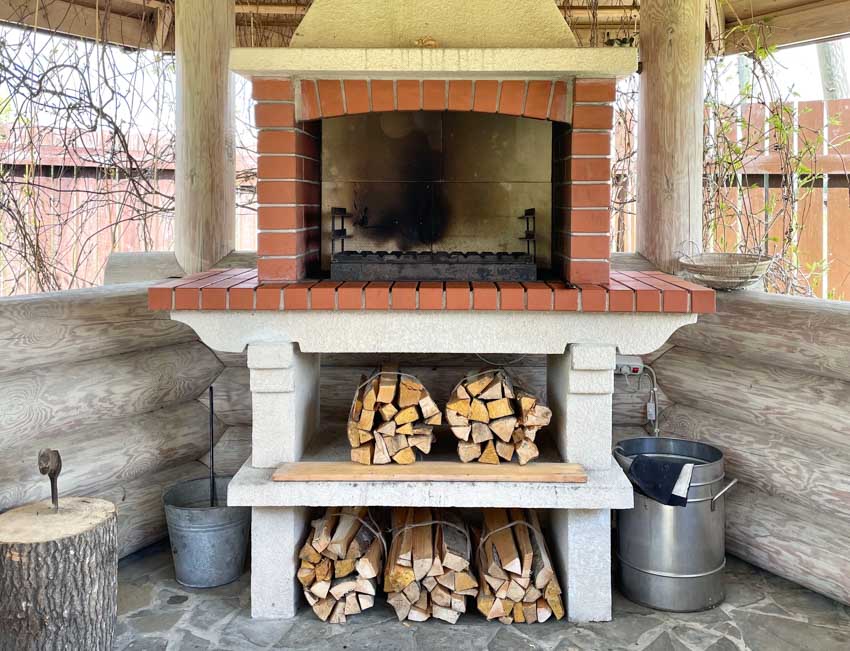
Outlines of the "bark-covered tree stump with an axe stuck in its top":
<svg viewBox="0 0 850 651">
<path fill-rule="evenodd" d="M 0 649 L 111 649 L 115 505 L 64 497 L 0 514 Z"/>
</svg>

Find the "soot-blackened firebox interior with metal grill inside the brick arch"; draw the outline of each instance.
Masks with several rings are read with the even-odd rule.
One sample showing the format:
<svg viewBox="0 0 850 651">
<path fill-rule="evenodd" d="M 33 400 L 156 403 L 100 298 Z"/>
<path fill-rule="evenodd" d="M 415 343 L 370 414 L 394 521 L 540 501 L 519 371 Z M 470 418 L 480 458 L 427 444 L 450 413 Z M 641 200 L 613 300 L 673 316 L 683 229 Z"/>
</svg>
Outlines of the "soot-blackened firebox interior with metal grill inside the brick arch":
<svg viewBox="0 0 850 651">
<path fill-rule="evenodd" d="M 551 266 L 551 124 L 392 112 L 322 122 L 333 280 L 536 280 Z"/>
</svg>

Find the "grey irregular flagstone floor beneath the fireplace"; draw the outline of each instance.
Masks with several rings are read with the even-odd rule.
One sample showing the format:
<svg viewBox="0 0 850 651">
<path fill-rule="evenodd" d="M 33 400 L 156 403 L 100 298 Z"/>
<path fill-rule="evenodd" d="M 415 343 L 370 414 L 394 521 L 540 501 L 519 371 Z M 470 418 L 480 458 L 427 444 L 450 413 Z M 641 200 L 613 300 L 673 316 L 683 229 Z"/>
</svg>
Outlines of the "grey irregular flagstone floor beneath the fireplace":
<svg viewBox="0 0 850 651">
<path fill-rule="evenodd" d="M 346 625 L 312 612 L 294 620 L 250 618 L 249 575 L 231 585 L 193 590 L 174 580 L 167 544 L 121 562 L 117 649 L 635 649 L 647 651 L 850 649 L 850 607 L 730 558 L 726 603 L 704 613 L 674 614 L 614 597 L 614 621 L 503 626 L 476 614 L 455 626 L 400 624 L 380 601 Z"/>
</svg>

